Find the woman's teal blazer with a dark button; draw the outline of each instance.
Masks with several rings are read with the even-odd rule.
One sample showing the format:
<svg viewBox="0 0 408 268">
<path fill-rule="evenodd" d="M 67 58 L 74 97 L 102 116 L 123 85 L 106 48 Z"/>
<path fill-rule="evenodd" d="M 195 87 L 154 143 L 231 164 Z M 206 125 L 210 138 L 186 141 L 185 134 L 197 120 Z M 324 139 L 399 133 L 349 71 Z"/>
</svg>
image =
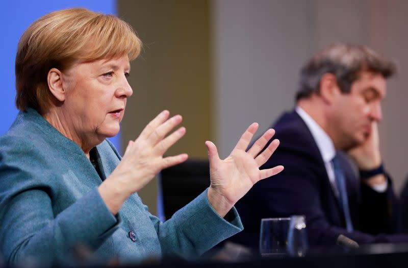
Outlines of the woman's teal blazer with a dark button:
<svg viewBox="0 0 408 268">
<path fill-rule="evenodd" d="M 108 140 L 96 150 L 106 178 L 121 157 Z M 114 216 L 97 191 L 101 182 L 77 143 L 35 110 L 20 112 L 0 137 L 0 251 L 6 262 L 66 263 L 80 246 L 103 261 L 194 258 L 243 229 L 235 208 L 225 217 L 230 221 L 217 214 L 207 190 L 164 223 L 137 193 Z"/>
</svg>

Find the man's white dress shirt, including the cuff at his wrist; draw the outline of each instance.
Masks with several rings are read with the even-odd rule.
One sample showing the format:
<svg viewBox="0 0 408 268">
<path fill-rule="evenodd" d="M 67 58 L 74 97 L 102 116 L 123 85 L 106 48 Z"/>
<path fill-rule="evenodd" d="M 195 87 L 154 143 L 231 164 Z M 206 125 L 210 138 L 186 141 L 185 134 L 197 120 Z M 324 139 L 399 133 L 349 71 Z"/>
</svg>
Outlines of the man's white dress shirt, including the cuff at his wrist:
<svg viewBox="0 0 408 268">
<path fill-rule="evenodd" d="M 339 190 L 337 189 L 336 185 L 334 166 L 333 163 L 331 162 L 331 160 L 333 160 L 333 158 L 336 155 L 336 149 L 335 145 L 333 144 L 333 140 L 331 140 L 331 138 L 319 126 L 319 124 L 317 124 L 316 121 L 302 108 L 297 106 L 295 110 L 297 114 L 302 118 L 310 132 L 312 133 L 312 136 L 317 144 L 317 147 L 319 148 L 320 155 L 323 158 L 324 166 L 326 167 L 326 172 L 331 184 L 331 188 L 333 188 L 336 197 L 338 197 Z M 375 185 L 372 188 L 377 192 L 385 192 L 387 190 L 387 187 L 388 182 L 386 180 L 385 183 L 381 185 Z"/>
</svg>

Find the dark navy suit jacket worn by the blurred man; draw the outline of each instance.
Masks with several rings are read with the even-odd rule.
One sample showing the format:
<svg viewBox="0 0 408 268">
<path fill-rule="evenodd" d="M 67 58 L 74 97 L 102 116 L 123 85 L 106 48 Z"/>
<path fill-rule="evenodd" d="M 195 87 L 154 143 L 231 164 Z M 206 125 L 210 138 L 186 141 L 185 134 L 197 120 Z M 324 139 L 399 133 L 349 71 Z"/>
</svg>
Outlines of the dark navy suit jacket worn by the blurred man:
<svg viewBox="0 0 408 268">
<path fill-rule="evenodd" d="M 348 204 L 354 231 L 348 233 L 339 202 L 331 188 L 317 144 L 301 117 L 285 113 L 273 128 L 281 141 L 273 156 L 261 167 L 284 165 L 282 173 L 260 181 L 237 203 L 244 231 L 235 242 L 257 248 L 261 218 L 305 215 L 311 245 L 335 245 L 340 234 L 359 242 L 408 241 L 396 231 L 391 180 L 388 190 L 378 193 L 354 175 L 341 154 Z"/>
</svg>

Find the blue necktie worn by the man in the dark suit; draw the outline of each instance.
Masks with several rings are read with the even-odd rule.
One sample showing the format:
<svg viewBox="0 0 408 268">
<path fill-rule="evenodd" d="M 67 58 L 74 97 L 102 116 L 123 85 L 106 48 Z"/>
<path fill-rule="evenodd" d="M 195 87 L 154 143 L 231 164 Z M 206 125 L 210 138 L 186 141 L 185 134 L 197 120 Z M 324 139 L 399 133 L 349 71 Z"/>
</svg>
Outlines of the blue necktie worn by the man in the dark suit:
<svg viewBox="0 0 408 268">
<path fill-rule="evenodd" d="M 343 170 L 341 169 L 339 156 L 336 156 L 331 160 L 334 167 L 335 177 L 336 177 L 336 184 L 339 190 L 339 201 L 340 206 L 343 209 L 344 218 L 346 220 L 346 227 L 348 232 L 353 231 L 353 224 L 351 223 L 351 216 L 350 210 L 348 207 L 348 199 L 347 199 L 347 188 L 346 188 L 346 181 L 344 179 Z"/>
</svg>

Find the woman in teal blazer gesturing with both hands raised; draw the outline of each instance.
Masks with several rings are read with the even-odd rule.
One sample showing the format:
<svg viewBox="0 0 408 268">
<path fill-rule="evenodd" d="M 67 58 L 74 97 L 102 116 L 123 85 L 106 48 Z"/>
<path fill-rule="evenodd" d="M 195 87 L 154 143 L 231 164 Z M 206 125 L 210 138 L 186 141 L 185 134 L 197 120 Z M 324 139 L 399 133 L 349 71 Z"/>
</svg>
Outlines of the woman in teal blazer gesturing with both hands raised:
<svg viewBox="0 0 408 268">
<path fill-rule="evenodd" d="M 187 154 L 163 157 L 185 134 L 180 115 L 163 111 L 123 157 L 106 139 L 116 135 L 132 88 L 126 77 L 141 43 L 117 17 L 86 9 L 49 13 L 22 35 L 16 56 L 16 105 L 0 138 L 0 243 L 6 260 L 72 260 L 80 247 L 98 260 L 139 261 L 199 255 L 242 230 L 234 204 L 258 180 L 278 146 L 268 130 L 246 152 L 258 125 L 220 160 L 207 141 L 210 187 L 161 223 L 137 195 L 161 169 Z M 258 155 L 259 154 L 259 155 Z"/>
</svg>

